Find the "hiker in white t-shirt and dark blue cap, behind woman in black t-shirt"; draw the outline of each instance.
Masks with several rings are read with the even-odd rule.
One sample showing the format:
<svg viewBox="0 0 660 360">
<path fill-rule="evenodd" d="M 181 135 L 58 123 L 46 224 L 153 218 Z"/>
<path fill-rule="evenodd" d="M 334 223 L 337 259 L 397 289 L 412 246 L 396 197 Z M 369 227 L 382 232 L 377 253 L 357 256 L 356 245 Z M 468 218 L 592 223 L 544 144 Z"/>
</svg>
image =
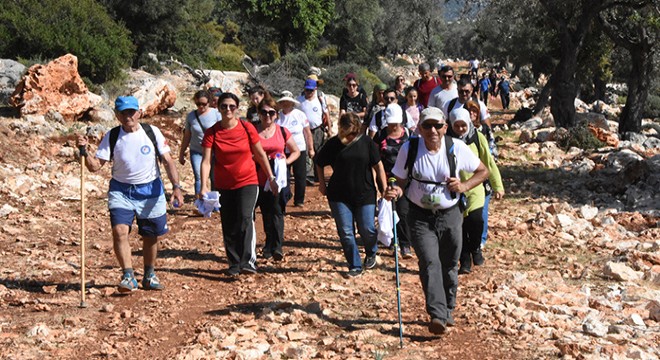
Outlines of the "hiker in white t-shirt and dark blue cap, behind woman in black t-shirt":
<svg viewBox="0 0 660 360">
<path fill-rule="evenodd" d="M 330 113 L 328 112 L 325 94 L 318 90 L 317 81 L 311 77 L 316 78 L 316 75 L 310 75 L 310 78 L 305 80 L 304 92 L 298 96 L 297 100 L 300 103 L 300 110 L 305 113 L 307 121 L 309 121 L 309 128 L 312 132 L 312 147 L 314 153 L 316 153 L 325 142 L 325 134 L 330 126 Z M 307 163 L 307 183 L 311 184 L 318 181 L 312 157 L 307 156 L 305 161 Z"/>
</svg>

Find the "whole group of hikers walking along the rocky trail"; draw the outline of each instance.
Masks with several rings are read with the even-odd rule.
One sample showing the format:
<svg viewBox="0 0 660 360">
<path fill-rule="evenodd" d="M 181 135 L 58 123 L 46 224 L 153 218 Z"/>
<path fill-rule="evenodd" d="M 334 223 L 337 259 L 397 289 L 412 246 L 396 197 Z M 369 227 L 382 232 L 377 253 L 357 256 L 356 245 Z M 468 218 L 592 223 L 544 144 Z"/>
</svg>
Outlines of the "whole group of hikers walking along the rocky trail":
<svg viewBox="0 0 660 360">
<path fill-rule="evenodd" d="M 356 277 L 376 266 L 383 231 L 376 217 L 384 208 L 377 198 L 393 201 L 401 256 L 418 258 L 429 331 L 441 334 L 455 324 L 458 275 L 484 263 L 488 204 L 504 195 L 504 187 L 477 74 L 457 79 L 449 66 L 438 76 L 426 63 L 418 69 L 420 78 L 412 86 L 397 76 L 391 87 L 376 85 L 370 99 L 359 78 L 347 74 L 335 136 L 329 136 L 327 101 L 316 74 L 308 76 L 298 96 L 286 91 L 276 99 L 262 86 L 251 88 L 244 116 L 233 93 L 194 94 L 196 109 L 185 119 L 179 162 L 190 161 L 197 198 L 219 192 L 229 275 L 258 272 L 257 206 L 265 233 L 259 255 L 284 260 L 286 205 L 293 198 L 294 206 L 305 206 L 306 186 L 318 184 L 336 224 L 345 275 Z M 179 206 L 184 199 L 176 164 L 161 131 L 140 123 L 135 97 L 118 97 L 115 114 L 121 125 L 104 135 L 94 156 L 87 156 L 86 136 L 78 136 L 77 143 L 90 171 L 112 161 L 108 208 L 122 268 L 118 291 L 138 289 L 128 241 L 134 219 L 143 241 L 142 287 L 162 290 L 154 271 L 158 240 L 168 232 L 159 162 L 172 184 L 170 203 Z M 329 179 L 326 167 L 332 168 Z"/>
</svg>

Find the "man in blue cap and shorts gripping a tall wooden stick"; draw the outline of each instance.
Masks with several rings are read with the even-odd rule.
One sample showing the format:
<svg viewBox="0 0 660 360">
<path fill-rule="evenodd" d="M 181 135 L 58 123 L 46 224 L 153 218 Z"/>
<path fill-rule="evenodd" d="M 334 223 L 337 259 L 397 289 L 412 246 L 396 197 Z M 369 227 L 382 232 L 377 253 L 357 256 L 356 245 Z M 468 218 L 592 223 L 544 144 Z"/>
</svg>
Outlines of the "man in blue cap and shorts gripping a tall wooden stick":
<svg viewBox="0 0 660 360">
<path fill-rule="evenodd" d="M 121 126 L 103 136 L 94 157 L 87 156 L 86 136 L 78 136 L 77 143 L 81 156 L 85 157 L 85 166 L 90 172 L 96 172 L 105 163 L 112 161 L 108 209 L 113 248 L 123 272 L 118 291 L 126 294 L 138 289 L 128 240 L 136 218 L 138 233 L 142 236 L 144 259 L 142 288 L 162 290 L 163 285 L 154 273 L 154 266 L 158 254 L 158 239 L 169 229 L 158 157 L 165 165 L 167 176 L 172 183 L 170 202 L 178 207 L 183 204 L 183 194 L 176 163 L 170 156 L 170 147 L 160 130 L 155 126 L 140 124 L 141 112 L 135 97 L 118 97 L 115 101 L 115 115 Z"/>
</svg>

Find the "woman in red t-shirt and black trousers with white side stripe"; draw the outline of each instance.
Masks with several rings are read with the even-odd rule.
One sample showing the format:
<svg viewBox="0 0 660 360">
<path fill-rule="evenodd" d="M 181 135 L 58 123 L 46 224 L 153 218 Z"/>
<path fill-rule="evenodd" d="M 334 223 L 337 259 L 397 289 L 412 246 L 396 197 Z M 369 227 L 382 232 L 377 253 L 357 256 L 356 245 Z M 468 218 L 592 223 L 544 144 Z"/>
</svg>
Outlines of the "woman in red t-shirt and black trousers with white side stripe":
<svg viewBox="0 0 660 360">
<path fill-rule="evenodd" d="M 229 275 L 257 272 L 254 206 L 259 194 L 255 161 L 264 169 L 270 186 L 278 192 L 275 176 L 254 126 L 236 116 L 238 97 L 222 93 L 218 109 L 222 120 L 204 133 L 202 140 L 202 189 L 209 192 L 211 152 L 214 155 L 213 184 L 220 191 L 222 237 L 229 262 Z M 254 161 L 252 158 L 254 156 Z"/>
</svg>

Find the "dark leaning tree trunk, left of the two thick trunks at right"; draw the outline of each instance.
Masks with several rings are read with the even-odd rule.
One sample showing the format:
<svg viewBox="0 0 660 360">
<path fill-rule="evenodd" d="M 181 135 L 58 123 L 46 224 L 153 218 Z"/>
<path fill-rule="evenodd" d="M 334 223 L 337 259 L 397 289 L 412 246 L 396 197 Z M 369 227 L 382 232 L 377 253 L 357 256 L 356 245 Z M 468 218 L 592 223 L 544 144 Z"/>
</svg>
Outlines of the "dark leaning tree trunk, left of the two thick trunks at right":
<svg viewBox="0 0 660 360">
<path fill-rule="evenodd" d="M 561 36 L 561 58 L 552 74 L 552 98 L 550 110 L 558 127 L 575 126 L 575 98 L 578 93 L 577 55 L 579 46 L 571 39 L 571 34 L 565 32 Z"/>
</svg>

